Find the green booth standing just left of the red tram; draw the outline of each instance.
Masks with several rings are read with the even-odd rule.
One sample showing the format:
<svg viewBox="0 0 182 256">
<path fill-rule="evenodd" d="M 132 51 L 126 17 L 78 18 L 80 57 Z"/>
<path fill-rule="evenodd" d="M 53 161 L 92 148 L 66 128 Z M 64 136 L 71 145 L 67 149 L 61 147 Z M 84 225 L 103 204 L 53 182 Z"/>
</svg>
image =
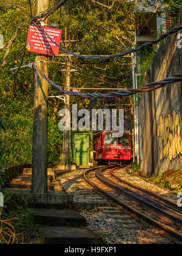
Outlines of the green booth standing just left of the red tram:
<svg viewBox="0 0 182 256">
<path fill-rule="evenodd" d="M 80 167 L 95 167 L 92 132 L 72 132 L 72 162 Z"/>
</svg>

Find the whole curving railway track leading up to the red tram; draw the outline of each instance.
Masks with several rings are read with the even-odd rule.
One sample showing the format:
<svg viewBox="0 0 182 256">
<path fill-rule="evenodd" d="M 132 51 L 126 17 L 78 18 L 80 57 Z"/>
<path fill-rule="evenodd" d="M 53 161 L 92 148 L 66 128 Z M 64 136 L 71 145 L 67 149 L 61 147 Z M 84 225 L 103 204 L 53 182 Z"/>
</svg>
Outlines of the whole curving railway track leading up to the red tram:
<svg viewBox="0 0 182 256">
<path fill-rule="evenodd" d="M 105 166 L 84 172 L 84 179 L 101 196 L 107 197 L 120 210 L 160 230 L 161 235 L 182 243 L 182 211 L 174 202 L 116 176 L 115 169 Z"/>
</svg>

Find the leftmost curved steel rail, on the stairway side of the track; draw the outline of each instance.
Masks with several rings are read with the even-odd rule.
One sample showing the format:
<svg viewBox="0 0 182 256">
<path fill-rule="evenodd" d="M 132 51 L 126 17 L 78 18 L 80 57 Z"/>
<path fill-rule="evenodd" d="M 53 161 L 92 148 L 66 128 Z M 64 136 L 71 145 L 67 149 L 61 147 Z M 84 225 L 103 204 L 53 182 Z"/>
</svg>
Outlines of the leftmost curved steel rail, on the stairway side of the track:
<svg viewBox="0 0 182 256">
<path fill-rule="evenodd" d="M 107 166 L 107 167 L 104 167 L 104 168 L 97 168 L 97 169 L 101 169 L 102 171 L 104 171 L 106 169 L 113 168 L 113 167 L 117 167 L 117 166 Z M 140 221 L 141 221 L 141 219 L 143 219 L 144 221 L 146 221 L 150 225 L 152 225 L 154 227 L 157 227 L 160 230 L 163 230 L 163 232 L 167 236 L 169 236 L 169 235 L 170 235 L 170 237 L 172 236 L 175 239 L 175 241 L 177 241 L 178 243 L 180 243 L 180 244 L 182 243 L 182 234 L 181 233 L 179 233 L 176 230 L 162 224 L 161 222 L 156 221 L 155 219 L 150 218 L 149 216 L 144 215 L 140 211 L 136 210 L 135 208 L 131 207 L 130 205 L 128 205 L 125 202 L 118 199 L 116 196 L 113 196 L 113 194 L 110 194 L 107 191 L 103 190 L 102 188 L 99 188 L 95 183 L 93 183 L 91 180 L 89 180 L 87 178 L 87 174 L 90 171 L 93 171 L 95 169 L 96 168 L 92 168 L 92 169 L 89 169 L 89 170 L 85 171 L 84 172 L 84 179 L 86 180 L 87 183 L 89 183 L 90 186 L 93 187 L 93 189 L 96 191 L 96 193 L 100 194 L 101 196 L 106 197 L 111 202 L 114 202 L 114 204 L 117 205 L 118 208 L 120 208 L 121 210 L 124 210 L 125 212 L 129 213 L 131 216 L 133 216 L 133 218 L 136 218 Z"/>
</svg>

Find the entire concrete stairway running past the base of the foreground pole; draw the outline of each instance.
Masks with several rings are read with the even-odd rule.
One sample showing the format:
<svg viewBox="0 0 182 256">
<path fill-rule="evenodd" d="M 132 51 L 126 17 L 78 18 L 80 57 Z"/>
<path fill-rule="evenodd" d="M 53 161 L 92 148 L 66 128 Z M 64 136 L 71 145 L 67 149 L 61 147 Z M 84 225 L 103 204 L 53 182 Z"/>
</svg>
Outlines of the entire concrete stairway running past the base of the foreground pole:
<svg viewBox="0 0 182 256">
<path fill-rule="evenodd" d="M 48 172 L 48 193 L 32 194 L 32 169 L 24 169 L 6 184 L 4 190 L 27 201 L 35 222 L 41 225 L 39 233 L 45 244 L 93 244 L 102 243 L 99 235 L 87 229 L 86 219 L 73 212 L 73 196 L 60 191 L 59 180 L 50 182 L 52 172 Z M 53 176 L 52 176 L 53 178 Z M 54 186 L 53 186 L 54 184 Z M 50 191 L 50 190 L 57 191 Z"/>
</svg>

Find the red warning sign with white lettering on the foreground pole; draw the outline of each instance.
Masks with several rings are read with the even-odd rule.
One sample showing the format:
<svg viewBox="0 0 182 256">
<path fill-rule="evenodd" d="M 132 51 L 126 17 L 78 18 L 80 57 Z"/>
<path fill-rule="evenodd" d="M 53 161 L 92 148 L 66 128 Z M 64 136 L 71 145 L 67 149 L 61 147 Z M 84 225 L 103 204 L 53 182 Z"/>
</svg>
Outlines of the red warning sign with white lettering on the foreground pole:
<svg viewBox="0 0 182 256">
<path fill-rule="evenodd" d="M 61 29 L 30 26 L 27 38 L 27 51 L 38 52 L 39 54 L 45 55 L 58 56 L 59 47 L 56 46 L 55 43 L 51 41 L 51 39 L 57 44 L 60 44 L 61 33 Z"/>
</svg>

